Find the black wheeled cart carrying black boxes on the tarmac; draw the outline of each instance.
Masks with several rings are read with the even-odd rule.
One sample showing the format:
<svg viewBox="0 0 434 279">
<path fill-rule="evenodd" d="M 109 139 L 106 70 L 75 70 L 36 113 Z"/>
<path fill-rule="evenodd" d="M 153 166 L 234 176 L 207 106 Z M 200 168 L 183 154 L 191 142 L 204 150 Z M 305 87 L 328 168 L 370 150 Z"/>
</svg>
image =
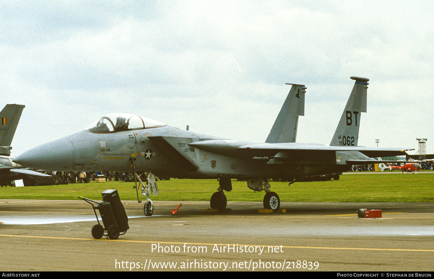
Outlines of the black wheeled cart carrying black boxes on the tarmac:
<svg viewBox="0 0 434 279">
<path fill-rule="evenodd" d="M 124 235 L 130 228 L 128 226 L 128 217 L 125 208 L 119 198 L 118 190 L 105 190 L 102 194 L 102 202 L 89 200 L 85 197 L 78 197 L 92 205 L 98 224 L 92 227 L 92 236 L 100 239 L 102 236 L 108 236 L 110 239 L 117 239 Z M 94 205 L 97 204 L 96 206 Z M 99 211 L 104 227 L 99 223 L 96 210 Z M 122 232 L 122 233 L 121 233 Z M 107 234 L 105 234 L 107 233 Z"/>
</svg>

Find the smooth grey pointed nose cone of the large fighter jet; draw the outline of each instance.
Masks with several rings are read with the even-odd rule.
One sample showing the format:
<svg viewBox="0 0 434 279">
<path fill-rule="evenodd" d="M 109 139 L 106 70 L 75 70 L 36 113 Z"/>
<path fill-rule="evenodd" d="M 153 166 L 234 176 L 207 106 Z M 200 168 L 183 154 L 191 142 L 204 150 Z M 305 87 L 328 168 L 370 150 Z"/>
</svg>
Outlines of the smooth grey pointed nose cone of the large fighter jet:
<svg viewBox="0 0 434 279">
<path fill-rule="evenodd" d="M 40 170 L 66 171 L 72 169 L 74 147 L 68 138 L 59 138 L 27 150 L 12 161 Z"/>
</svg>

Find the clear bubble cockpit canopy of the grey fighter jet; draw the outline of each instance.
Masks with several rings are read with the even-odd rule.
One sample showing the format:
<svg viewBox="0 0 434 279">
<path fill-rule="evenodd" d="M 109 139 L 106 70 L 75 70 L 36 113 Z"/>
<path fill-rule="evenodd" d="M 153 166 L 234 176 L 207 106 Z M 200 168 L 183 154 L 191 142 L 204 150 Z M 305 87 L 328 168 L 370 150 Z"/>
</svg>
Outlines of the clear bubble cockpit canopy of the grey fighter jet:
<svg viewBox="0 0 434 279">
<path fill-rule="evenodd" d="M 120 131 L 139 130 L 162 127 L 166 124 L 138 115 L 127 113 L 112 113 L 99 118 L 86 130 L 92 133 L 112 133 Z"/>
</svg>

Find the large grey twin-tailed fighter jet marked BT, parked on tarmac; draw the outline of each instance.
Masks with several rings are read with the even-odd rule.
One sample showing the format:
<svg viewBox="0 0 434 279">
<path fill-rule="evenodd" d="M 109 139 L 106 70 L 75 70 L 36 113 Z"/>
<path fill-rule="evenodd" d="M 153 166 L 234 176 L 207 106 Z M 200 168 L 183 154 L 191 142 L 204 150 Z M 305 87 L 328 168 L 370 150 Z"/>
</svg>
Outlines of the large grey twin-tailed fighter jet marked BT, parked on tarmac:
<svg viewBox="0 0 434 279">
<path fill-rule="evenodd" d="M 224 190 L 231 179 L 246 179 L 247 187 L 265 190 L 263 205 L 279 211 L 279 196 L 270 190 L 270 177 L 302 177 L 348 171 L 353 164 L 374 164 L 372 157 L 405 155 L 404 148 L 359 147 L 361 112 L 366 112 L 366 78 L 355 84 L 330 146 L 293 142 L 294 121 L 304 113 L 304 85 L 292 85 L 266 143 L 237 141 L 180 130 L 138 115 L 106 115 L 76 134 L 32 148 L 13 161 L 52 171 L 134 172 L 146 196 L 145 215 L 153 212 L 150 192 L 158 194 L 155 176 L 217 179 L 211 208 L 225 209 Z M 300 100 L 303 100 L 301 103 Z M 300 106 L 301 105 L 301 106 Z M 294 128 L 295 127 L 295 128 Z M 148 177 L 141 182 L 138 174 Z"/>
</svg>

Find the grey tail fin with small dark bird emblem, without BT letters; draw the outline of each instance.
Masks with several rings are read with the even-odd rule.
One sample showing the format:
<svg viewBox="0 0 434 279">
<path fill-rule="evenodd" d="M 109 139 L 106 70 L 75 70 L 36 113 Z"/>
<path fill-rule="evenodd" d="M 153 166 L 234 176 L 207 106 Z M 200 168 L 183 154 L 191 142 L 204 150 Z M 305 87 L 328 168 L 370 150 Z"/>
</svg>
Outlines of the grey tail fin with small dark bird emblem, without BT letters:
<svg viewBox="0 0 434 279">
<path fill-rule="evenodd" d="M 266 143 L 295 142 L 299 115 L 304 115 L 304 93 L 306 87 L 292 84 L 288 96 L 274 121 L 273 128 L 266 139 Z"/>
</svg>

